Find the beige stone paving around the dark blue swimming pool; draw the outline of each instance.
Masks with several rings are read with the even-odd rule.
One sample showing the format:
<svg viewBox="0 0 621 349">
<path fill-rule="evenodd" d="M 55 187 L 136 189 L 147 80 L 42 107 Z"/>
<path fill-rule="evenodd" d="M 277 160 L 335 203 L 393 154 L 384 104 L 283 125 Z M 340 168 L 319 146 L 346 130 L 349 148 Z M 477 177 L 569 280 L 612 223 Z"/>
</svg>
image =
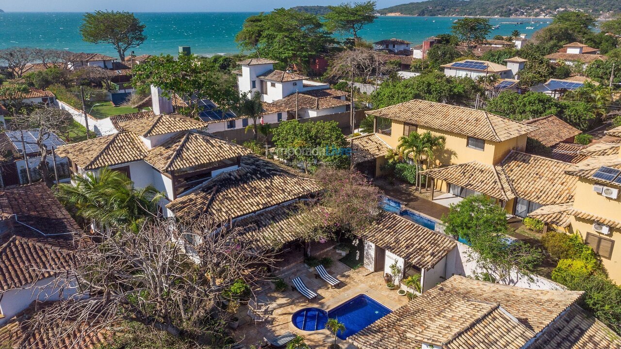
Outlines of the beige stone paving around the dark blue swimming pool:
<svg viewBox="0 0 621 349">
<path fill-rule="evenodd" d="M 291 252 L 296 253 L 296 252 Z M 314 290 L 319 296 L 314 301 L 307 302 L 306 297 L 299 292 L 289 288 L 285 292 L 276 292 L 271 283 L 262 283 L 263 289 L 256 290 L 256 297 L 260 301 L 268 302 L 273 311 L 268 315 L 266 322 L 255 322 L 246 314 L 247 308 L 243 307 L 243 317 L 240 316 L 240 325 L 235 333 L 235 338 L 250 347 L 263 342 L 263 337 L 274 338 L 285 332 L 292 332 L 306 338 L 306 343 L 311 348 L 325 348 L 333 343 L 333 336 L 328 330 L 303 331 L 299 330 L 291 322 L 291 316 L 299 309 L 306 307 L 318 307 L 330 310 L 351 299 L 358 294 L 366 294 L 391 310 L 396 310 L 407 303 L 406 296 L 399 296 L 396 290 L 389 290 L 384 283 L 381 271 L 372 273 L 364 267 L 351 270 L 344 265 L 338 258 L 342 256 L 335 250 L 330 249 L 321 254 L 320 257 L 330 256 L 334 261 L 328 268 L 328 272 L 342 281 L 338 288 L 330 288 L 329 284 L 323 279 L 315 278 L 315 272 L 309 271 L 304 263 L 286 265 L 274 274 L 285 279 L 291 285 L 291 279 L 300 276 L 306 286 Z M 337 343 L 341 348 L 355 348 L 347 341 L 337 338 Z"/>
</svg>

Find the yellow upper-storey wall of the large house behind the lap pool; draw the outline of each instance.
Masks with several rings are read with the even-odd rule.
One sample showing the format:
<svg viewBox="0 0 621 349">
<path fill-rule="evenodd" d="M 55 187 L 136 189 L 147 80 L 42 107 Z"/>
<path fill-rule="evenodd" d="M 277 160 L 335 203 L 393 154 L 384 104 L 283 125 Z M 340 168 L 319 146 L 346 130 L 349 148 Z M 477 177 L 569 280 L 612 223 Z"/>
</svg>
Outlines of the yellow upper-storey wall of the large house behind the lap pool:
<svg viewBox="0 0 621 349">
<path fill-rule="evenodd" d="M 403 135 L 404 123 L 392 120 L 391 135 L 378 135 L 384 142 L 392 148 L 399 145 L 399 137 Z M 436 165 L 451 165 L 458 163 L 466 163 L 470 161 L 479 161 L 494 165 L 499 163 L 512 149 L 524 151 L 526 148 L 527 135 L 512 138 L 505 142 L 485 141 L 484 150 L 478 150 L 468 147 L 468 137 L 465 135 L 455 134 L 453 132 L 445 132 L 437 129 L 419 126 L 419 134 L 431 132 L 433 135 L 442 135 L 446 138 L 445 151 L 437 155 Z"/>
</svg>

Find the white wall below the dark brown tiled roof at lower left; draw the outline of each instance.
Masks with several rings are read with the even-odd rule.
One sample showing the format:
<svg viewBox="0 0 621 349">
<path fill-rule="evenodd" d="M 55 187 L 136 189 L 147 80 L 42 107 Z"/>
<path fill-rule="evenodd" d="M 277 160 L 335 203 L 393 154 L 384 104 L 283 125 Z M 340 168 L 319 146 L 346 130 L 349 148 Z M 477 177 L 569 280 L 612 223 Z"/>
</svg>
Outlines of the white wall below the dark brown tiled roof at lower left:
<svg viewBox="0 0 621 349">
<path fill-rule="evenodd" d="M 29 285 L 26 285 L 29 286 Z M 56 286 L 56 287 L 55 287 Z M 62 286 L 65 286 L 64 288 Z M 4 317 L 0 319 L 0 326 L 6 324 L 17 313 L 30 306 L 34 301 L 58 301 L 68 299 L 76 294 L 76 283 L 61 283 L 55 278 L 46 278 L 37 283 L 19 289 L 8 289 L 0 298 L 0 309 Z"/>
</svg>

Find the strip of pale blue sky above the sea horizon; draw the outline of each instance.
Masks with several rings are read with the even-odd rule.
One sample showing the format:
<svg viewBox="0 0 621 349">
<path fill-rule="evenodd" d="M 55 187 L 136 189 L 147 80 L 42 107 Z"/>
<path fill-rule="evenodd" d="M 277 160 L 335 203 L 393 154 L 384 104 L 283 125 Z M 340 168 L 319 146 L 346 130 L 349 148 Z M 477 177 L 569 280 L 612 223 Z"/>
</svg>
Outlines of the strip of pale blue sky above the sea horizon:
<svg viewBox="0 0 621 349">
<path fill-rule="evenodd" d="M 356 0 L 360 1 L 360 0 Z M 411 2 L 412 0 L 377 0 L 378 8 Z M 342 0 L 27 0 L 0 1 L 0 9 L 20 12 L 85 12 L 96 9 L 131 12 L 257 12 L 276 7 L 299 5 L 335 5 Z M 353 1 L 352 1 L 353 2 Z"/>
</svg>

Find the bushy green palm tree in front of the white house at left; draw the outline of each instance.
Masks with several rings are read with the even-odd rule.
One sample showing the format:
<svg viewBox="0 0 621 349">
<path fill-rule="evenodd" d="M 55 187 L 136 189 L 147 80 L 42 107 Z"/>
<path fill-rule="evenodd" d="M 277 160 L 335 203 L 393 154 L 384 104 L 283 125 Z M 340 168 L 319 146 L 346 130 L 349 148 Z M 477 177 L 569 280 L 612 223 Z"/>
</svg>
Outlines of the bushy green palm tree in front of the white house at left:
<svg viewBox="0 0 621 349">
<path fill-rule="evenodd" d="M 124 173 L 108 168 L 85 176 L 76 174 L 73 183 L 57 185 L 61 202 L 106 232 L 123 227 L 137 232 L 145 220 L 157 214 L 157 202 L 163 197 L 153 186 L 135 189 Z"/>
</svg>

